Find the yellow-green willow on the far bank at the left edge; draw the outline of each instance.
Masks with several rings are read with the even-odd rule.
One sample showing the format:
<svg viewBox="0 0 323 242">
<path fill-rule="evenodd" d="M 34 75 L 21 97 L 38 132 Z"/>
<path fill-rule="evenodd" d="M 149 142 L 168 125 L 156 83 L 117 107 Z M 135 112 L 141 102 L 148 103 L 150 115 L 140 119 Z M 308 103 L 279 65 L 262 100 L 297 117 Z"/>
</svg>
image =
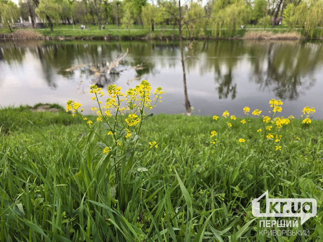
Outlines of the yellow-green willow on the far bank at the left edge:
<svg viewBox="0 0 323 242">
<path fill-rule="evenodd" d="M 18 8 L 13 2 L 0 2 L 0 20 L 3 28 L 8 28 L 12 32 L 11 23 L 17 18 Z"/>
</svg>

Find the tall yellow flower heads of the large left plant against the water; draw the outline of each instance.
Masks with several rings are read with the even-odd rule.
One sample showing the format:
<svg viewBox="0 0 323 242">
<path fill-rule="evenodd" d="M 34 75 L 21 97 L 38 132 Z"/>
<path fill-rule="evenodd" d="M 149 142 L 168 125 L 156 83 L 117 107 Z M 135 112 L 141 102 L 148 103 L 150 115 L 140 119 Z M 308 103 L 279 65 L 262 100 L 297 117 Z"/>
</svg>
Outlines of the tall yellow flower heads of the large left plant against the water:
<svg viewBox="0 0 323 242">
<path fill-rule="evenodd" d="M 146 80 L 141 81 L 139 85 L 135 86 L 135 88 L 128 89 L 125 94 L 121 92 L 121 87 L 118 87 L 116 84 L 109 85 L 107 87 L 108 97 L 106 98 L 105 103 L 102 104 L 103 100 L 99 100 L 104 96 L 102 88 L 98 88 L 96 85 L 90 86 L 89 93 L 94 94 L 91 99 L 95 100 L 98 104 L 97 107 L 92 107 L 91 110 L 96 112 L 97 121 L 104 123 L 104 129 L 107 129 L 107 135 L 112 136 L 114 145 L 122 146 L 123 142 L 128 142 L 126 139 L 129 139 L 132 134 L 139 135 L 142 120 L 147 116 L 151 116 L 149 112 L 157 102 L 161 102 L 160 95 L 165 93 L 160 87 L 156 88 L 153 93 L 155 95 L 153 98 L 154 102 L 151 104 L 150 92 L 151 86 Z M 87 120 L 87 118 L 81 114 L 83 109 L 81 112 L 78 111 L 80 106 L 80 103 L 69 100 L 66 104 L 66 111 L 72 111 L 73 116 L 76 114 L 81 115 L 87 127 L 91 129 L 93 133 L 103 141 L 103 143 L 105 143 L 105 140 L 91 128 L 91 124 L 93 124 L 93 122 L 91 120 Z M 129 111 L 129 114 L 125 119 L 122 118 L 125 114 L 124 111 Z M 140 113 L 140 115 L 137 115 L 137 113 Z M 114 116 L 113 120 L 108 122 L 107 120 L 111 116 Z M 135 127 L 137 125 L 138 127 Z M 133 131 L 130 131 L 130 127 L 135 128 Z M 122 132 L 124 130 L 126 130 L 126 133 Z M 121 139 L 121 134 L 124 134 L 124 139 Z M 150 142 L 149 144 L 151 147 L 158 147 L 155 141 Z M 112 147 L 114 147 L 114 145 Z M 105 147 L 103 149 L 104 154 L 109 152 L 111 152 L 110 147 Z"/>
</svg>

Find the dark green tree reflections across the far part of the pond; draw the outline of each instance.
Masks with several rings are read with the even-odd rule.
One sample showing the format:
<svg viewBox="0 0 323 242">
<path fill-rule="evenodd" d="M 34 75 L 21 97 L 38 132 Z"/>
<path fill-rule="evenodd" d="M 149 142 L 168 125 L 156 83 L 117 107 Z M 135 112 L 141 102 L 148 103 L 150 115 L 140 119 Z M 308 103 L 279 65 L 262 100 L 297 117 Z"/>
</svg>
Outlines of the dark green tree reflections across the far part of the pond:
<svg viewBox="0 0 323 242">
<path fill-rule="evenodd" d="M 25 65 L 30 68 L 30 63 L 37 62 L 37 72 L 50 88 L 57 88 L 58 76 L 77 82 L 81 80 L 88 85 L 93 79 L 94 72 L 91 70 L 81 68 L 70 73 L 65 70 L 89 63 L 104 66 L 127 48 L 129 53 L 120 65 L 131 67 L 142 64 L 145 69 L 133 71 L 132 76 L 103 77 L 104 86 L 124 82 L 125 78 L 137 81 L 147 77 L 160 86 L 169 85 L 165 87 L 169 89 L 182 84 L 179 79 L 182 70 L 178 62 L 180 49 L 177 41 L 0 43 L 0 70 L 7 70 L 8 73 L 13 66 Z M 198 60 L 190 59 L 185 63 L 187 76 L 190 77 L 188 87 L 192 88 L 189 92 L 203 88 L 198 85 L 201 80 L 209 82 L 211 79 L 211 82 L 215 82 L 213 90 L 219 99 L 237 98 L 247 80 L 248 85 L 254 83 L 259 92 L 296 100 L 316 84 L 315 74 L 323 61 L 322 43 L 306 41 L 196 41 L 190 48 L 184 48 L 185 56 L 192 53 Z M 168 72 L 175 74 L 170 77 Z M 190 75 L 198 76 L 201 80 L 194 80 Z M 5 80 L 6 76 L 2 76 L 0 84 Z"/>
</svg>

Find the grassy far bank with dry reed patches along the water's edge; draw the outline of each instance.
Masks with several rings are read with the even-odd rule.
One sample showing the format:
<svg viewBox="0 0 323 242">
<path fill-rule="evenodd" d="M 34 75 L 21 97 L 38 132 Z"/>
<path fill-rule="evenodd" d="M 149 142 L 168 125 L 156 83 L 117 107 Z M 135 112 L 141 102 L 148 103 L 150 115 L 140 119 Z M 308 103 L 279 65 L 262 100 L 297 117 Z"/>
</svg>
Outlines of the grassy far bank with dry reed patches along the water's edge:
<svg viewBox="0 0 323 242">
<path fill-rule="evenodd" d="M 20 31 L 20 30 L 18 30 Z M 222 30 L 221 35 L 214 37 L 211 29 L 205 29 L 202 36 L 195 36 L 190 38 L 195 39 L 225 39 L 225 38 L 253 38 L 253 39 L 299 39 L 302 36 L 302 29 L 295 28 L 290 29 L 286 26 L 276 26 L 272 28 L 271 26 L 261 27 L 261 26 L 247 26 L 247 29 L 239 29 L 233 35 L 231 31 Z M 98 30 L 97 26 L 91 26 L 85 30 L 81 30 L 80 26 L 75 25 L 60 25 L 54 28 L 53 32 L 50 32 L 48 28 L 35 30 L 34 38 L 49 39 L 177 39 L 178 30 L 172 26 L 156 26 L 155 31 L 149 29 L 143 29 L 141 25 L 136 25 L 132 29 L 128 30 L 114 25 L 106 26 L 104 30 Z M 255 34 L 256 33 L 256 34 Z M 185 31 L 183 32 L 185 36 Z M 31 38 L 31 34 L 25 31 L 26 38 Z M 292 37 L 291 37 L 292 35 Z M 0 39 L 23 39 L 24 35 L 15 36 L 15 34 L 10 34 L 9 30 L 0 29 Z M 321 29 L 316 29 L 313 33 L 312 38 L 320 38 L 322 36 Z M 189 37 L 189 36 L 186 36 Z"/>
</svg>

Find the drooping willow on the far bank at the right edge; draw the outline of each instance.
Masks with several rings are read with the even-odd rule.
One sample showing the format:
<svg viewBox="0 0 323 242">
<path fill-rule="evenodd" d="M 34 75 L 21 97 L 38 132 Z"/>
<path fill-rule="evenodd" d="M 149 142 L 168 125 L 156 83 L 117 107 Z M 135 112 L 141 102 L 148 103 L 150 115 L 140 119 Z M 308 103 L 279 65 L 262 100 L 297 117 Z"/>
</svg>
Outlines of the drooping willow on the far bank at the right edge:
<svg viewBox="0 0 323 242">
<path fill-rule="evenodd" d="M 323 24 L 323 0 L 303 2 L 295 9 L 295 24 L 301 25 L 304 35 L 313 37 L 314 30 Z"/>
</svg>

